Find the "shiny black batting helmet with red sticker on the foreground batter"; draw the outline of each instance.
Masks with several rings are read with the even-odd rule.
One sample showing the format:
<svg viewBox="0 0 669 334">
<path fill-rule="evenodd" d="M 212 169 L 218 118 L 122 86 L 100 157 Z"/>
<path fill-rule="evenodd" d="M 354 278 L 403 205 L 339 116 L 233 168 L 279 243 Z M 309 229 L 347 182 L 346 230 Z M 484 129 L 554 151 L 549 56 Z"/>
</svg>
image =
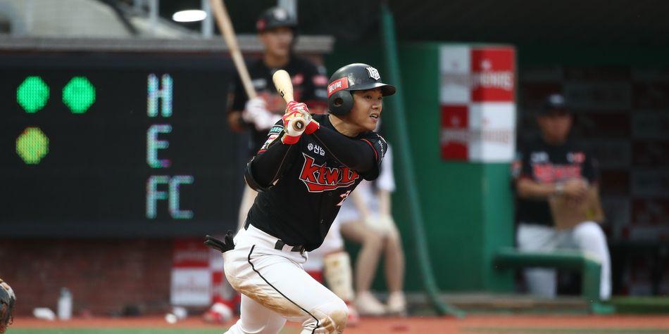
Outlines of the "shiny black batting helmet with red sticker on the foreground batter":
<svg viewBox="0 0 669 334">
<path fill-rule="evenodd" d="M 380 88 L 383 96 L 395 94 L 395 86 L 381 82 L 379 71 L 370 65 L 354 63 L 339 68 L 327 84 L 327 108 L 332 115 L 343 116 L 353 108 L 352 91 Z"/>
</svg>

